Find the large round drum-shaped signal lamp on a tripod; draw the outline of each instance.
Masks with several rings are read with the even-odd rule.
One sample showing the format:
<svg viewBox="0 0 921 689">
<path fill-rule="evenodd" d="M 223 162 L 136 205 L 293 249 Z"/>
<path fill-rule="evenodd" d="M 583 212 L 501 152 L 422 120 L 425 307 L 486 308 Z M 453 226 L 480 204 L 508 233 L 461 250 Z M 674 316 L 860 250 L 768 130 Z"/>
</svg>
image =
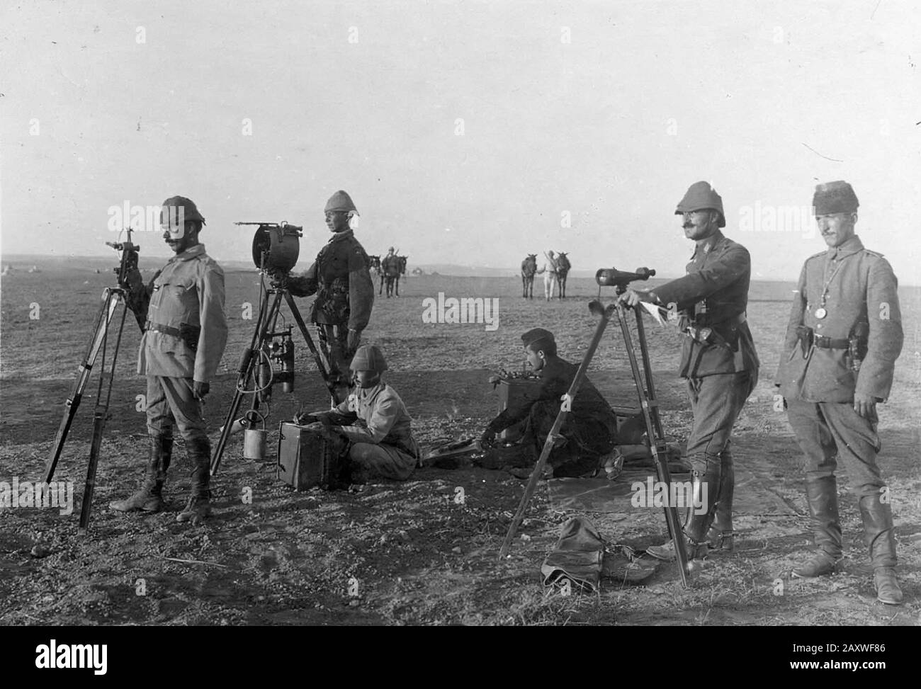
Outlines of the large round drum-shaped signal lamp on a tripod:
<svg viewBox="0 0 921 689">
<path fill-rule="evenodd" d="M 272 388 L 275 383 L 282 384 L 282 391 L 294 391 L 295 350 L 292 338 L 293 326 L 278 329 L 278 318 L 284 300 L 294 316 L 297 328 L 317 363 L 319 371 L 333 404 L 343 402 L 341 391 L 337 390 L 332 380 L 330 362 L 314 344 L 307 330 L 307 325 L 297 309 L 294 298 L 285 287 L 286 278 L 297 263 L 300 252 L 299 238 L 303 228 L 281 223 L 239 222 L 236 225 L 258 226 L 252 238 L 252 262 L 260 271 L 259 316 L 252 333 L 250 346 L 243 351 L 237 369 L 237 388 L 227 410 L 221 435 L 211 458 L 211 475 L 217 473 L 221 458 L 227 447 L 230 435 L 241 427 L 246 427 L 249 419 L 256 416 L 260 404 L 268 406 L 272 400 Z M 265 275 L 271 278 L 270 286 L 265 288 Z M 281 316 L 284 320 L 284 316 Z M 276 366 L 274 366 L 274 364 Z M 252 381 L 252 387 L 250 384 Z M 250 411 L 239 416 L 239 407 L 243 395 L 252 395 Z M 266 415 L 259 415 L 264 418 Z"/>
</svg>

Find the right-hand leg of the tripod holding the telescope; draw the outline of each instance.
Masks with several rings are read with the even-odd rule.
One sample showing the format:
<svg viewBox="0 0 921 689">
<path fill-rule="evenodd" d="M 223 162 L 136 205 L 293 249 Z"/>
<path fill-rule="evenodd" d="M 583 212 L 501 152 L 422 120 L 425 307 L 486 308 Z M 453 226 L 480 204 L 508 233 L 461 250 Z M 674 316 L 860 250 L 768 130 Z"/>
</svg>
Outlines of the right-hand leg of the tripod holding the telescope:
<svg viewBox="0 0 921 689">
<path fill-rule="evenodd" d="M 627 357 L 630 359 L 630 368 L 633 371 L 636 394 L 639 396 L 640 407 L 643 410 L 643 419 L 646 421 L 646 432 L 649 438 L 649 451 L 652 452 L 652 460 L 656 464 L 656 471 L 659 474 L 661 485 L 669 486 L 671 492 L 671 473 L 669 472 L 669 461 L 665 456 L 665 438 L 662 434 L 662 425 L 659 421 L 659 403 L 654 397 L 652 388 L 652 371 L 649 368 L 649 353 L 646 343 L 646 332 L 643 330 L 643 323 L 640 321 L 640 314 L 636 313 L 637 319 L 637 337 L 639 338 L 640 351 L 643 356 L 643 368 L 645 368 L 646 382 L 648 391 L 643 386 L 643 375 L 640 373 L 639 366 L 636 363 L 636 353 L 633 348 L 633 340 L 630 337 L 630 326 L 627 323 L 626 307 L 618 302 L 617 315 L 621 321 L 621 331 L 624 333 L 624 347 L 627 350 Z M 639 307 L 635 307 L 638 309 Z M 666 501 L 670 503 L 670 501 Z M 675 555 L 678 558 L 679 571 L 682 576 L 682 586 L 687 588 L 688 585 L 688 555 L 686 543 L 684 543 L 681 521 L 678 519 L 678 509 L 676 506 L 666 504 L 665 521 L 668 524 L 672 542 L 675 544 Z"/>
</svg>

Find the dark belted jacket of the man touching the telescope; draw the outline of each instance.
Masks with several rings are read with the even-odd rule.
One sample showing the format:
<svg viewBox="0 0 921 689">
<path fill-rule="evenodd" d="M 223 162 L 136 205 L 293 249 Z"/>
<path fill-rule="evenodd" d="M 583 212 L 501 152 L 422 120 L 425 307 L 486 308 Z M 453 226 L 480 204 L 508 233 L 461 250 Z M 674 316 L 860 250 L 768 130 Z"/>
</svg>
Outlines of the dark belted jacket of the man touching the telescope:
<svg viewBox="0 0 921 689">
<path fill-rule="evenodd" d="M 757 377 L 758 354 L 744 321 L 751 278 L 748 250 L 717 229 L 710 237 L 697 240 L 684 277 L 652 290 L 660 304 L 676 305 L 694 324 L 716 333 L 704 343 L 684 338 L 682 378 L 739 371 L 751 371 Z"/>
</svg>

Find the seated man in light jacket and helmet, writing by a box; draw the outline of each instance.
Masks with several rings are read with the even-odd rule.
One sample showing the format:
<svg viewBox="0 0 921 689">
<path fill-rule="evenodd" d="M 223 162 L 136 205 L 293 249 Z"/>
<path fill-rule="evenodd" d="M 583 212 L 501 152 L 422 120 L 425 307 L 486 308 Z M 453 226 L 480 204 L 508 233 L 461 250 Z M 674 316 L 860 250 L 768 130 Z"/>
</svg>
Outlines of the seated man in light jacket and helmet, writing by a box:
<svg viewBox="0 0 921 689">
<path fill-rule="evenodd" d="M 374 344 L 363 344 L 349 368 L 356 385 L 348 398 L 332 411 L 299 415 L 297 423 L 321 423 L 346 464 L 340 473 L 344 480 L 347 476 L 353 484 L 375 478 L 405 481 L 415 469 L 419 446 L 400 395 L 380 380 L 387 370 L 384 355 Z"/>
</svg>

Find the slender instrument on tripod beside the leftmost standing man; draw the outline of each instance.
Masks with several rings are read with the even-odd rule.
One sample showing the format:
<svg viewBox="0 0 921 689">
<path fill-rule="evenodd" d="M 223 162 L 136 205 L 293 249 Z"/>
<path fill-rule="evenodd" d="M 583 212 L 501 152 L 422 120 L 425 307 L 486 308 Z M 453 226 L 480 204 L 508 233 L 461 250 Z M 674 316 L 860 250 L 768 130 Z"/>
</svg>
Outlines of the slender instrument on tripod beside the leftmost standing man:
<svg viewBox="0 0 921 689">
<path fill-rule="evenodd" d="M 125 286 L 127 284 L 128 271 L 137 268 L 138 251 L 141 248 L 131 241 L 132 229 L 128 228 L 127 239 L 122 242 L 107 241 L 106 246 L 110 246 L 115 251 L 122 252 L 122 260 L 119 267 L 112 268 L 117 275 L 118 286 L 106 287 L 102 292 L 102 306 L 99 309 L 99 315 L 96 319 L 96 328 L 93 336 L 89 341 L 87 356 L 84 356 L 82 363 L 77 368 L 76 381 L 71 389 L 70 396 L 64 403 L 64 417 L 61 419 L 61 425 L 58 426 L 57 435 L 52 443 L 51 454 L 48 463 L 45 466 L 45 483 L 49 483 L 54 476 L 54 470 L 57 468 L 58 460 L 61 458 L 61 452 L 64 450 L 64 444 L 67 441 L 67 434 L 70 432 L 70 426 L 74 422 L 76 410 L 83 399 L 83 393 L 87 389 L 93 366 L 102 352 L 102 360 L 99 371 L 99 389 L 96 393 L 96 407 L 93 411 L 93 434 L 89 444 L 89 461 L 87 462 L 87 482 L 83 491 L 83 503 L 80 507 L 80 530 L 85 531 L 89 524 L 89 510 L 93 502 L 93 492 L 96 488 L 96 468 L 99 464 L 99 449 L 102 444 L 102 433 L 105 428 L 106 419 L 109 415 L 109 403 L 111 400 L 112 381 L 115 378 L 115 364 L 118 360 L 119 347 L 122 344 L 122 330 L 124 328 L 125 314 L 127 305 L 125 303 Z M 109 332 L 111 321 L 115 316 L 115 311 L 119 305 L 122 306 L 122 315 L 118 319 L 118 331 L 115 337 L 115 346 L 112 348 L 111 366 L 108 375 L 106 373 L 106 356 L 108 354 Z M 142 326 L 143 330 L 143 326 Z M 105 394 L 103 395 L 103 388 Z"/>
</svg>

